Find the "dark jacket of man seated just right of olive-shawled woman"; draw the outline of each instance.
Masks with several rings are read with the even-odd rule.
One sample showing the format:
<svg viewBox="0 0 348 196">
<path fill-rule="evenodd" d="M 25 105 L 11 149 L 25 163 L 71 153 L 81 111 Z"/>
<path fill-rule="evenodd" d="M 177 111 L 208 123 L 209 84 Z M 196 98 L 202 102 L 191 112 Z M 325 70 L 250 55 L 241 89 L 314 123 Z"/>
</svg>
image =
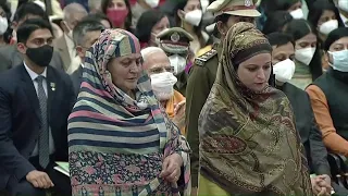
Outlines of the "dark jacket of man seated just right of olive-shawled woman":
<svg viewBox="0 0 348 196">
<path fill-rule="evenodd" d="M 309 96 L 304 90 L 289 83 L 285 83 L 282 90 L 291 103 L 296 119 L 296 127 L 304 146 L 311 172 L 319 175 L 331 175 L 327 162 L 327 150 L 314 119 Z"/>
</svg>

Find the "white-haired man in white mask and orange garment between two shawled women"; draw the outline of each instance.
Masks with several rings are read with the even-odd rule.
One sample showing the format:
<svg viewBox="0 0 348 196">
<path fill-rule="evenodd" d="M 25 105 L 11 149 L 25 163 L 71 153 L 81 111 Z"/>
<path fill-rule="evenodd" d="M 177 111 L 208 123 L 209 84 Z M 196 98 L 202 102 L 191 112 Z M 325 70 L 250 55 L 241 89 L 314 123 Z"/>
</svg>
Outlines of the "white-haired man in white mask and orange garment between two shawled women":
<svg viewBox="0 0 348 196">
<path fill-rule="evenodd" d="M 174 89 L 177 78 L 174 76 L 174 66 L 165 52 L 158 47 L 148 47 L 141 50 L 144 68 L 147 70 L 152 90 L 165 109 L 166 114 L 185 135 L 185 97 Z"/>
</svg>

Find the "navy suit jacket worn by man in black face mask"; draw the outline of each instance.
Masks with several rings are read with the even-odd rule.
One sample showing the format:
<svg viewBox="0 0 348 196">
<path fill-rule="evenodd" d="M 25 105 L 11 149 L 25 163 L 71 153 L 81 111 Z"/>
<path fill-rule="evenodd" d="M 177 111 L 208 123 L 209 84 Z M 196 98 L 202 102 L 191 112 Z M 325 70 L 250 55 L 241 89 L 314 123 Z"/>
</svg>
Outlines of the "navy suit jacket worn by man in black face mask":
<svg viewBox="0 0 348 196">
<path fill-rule="evenodd" d="M 51 88 L 54 83 L 55 89 Z M 48 121 L 55 160 L 67 161 L 67 118 L 75 102 L 67 74 L 47 70 Z M 28 161 L 39 136 L 40 109 L 33 81 L 23 63 L 0 74 L 0 189 L 11 175 L 21 180 L 35 168 Z"/>
</svg>

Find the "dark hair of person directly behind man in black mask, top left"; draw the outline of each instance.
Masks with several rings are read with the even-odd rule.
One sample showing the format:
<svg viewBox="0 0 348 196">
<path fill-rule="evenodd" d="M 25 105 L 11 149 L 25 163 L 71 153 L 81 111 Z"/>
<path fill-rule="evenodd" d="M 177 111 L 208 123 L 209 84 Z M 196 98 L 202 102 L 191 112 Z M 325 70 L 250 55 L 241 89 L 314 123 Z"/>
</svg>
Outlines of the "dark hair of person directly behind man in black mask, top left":
<svg viewBox="0 0 348 196">
<path fill-rule="evenodd" d="M 25 20 L 28 15 L 37 15 L 44 20 L 49 21 L 47 13 L 44 11 L 44 9 L 34 3 L 34 2 L 27 2 L 23 3 L 15 12 L 13 21 L 20 22 L 22 20 Z"/>
</svg>

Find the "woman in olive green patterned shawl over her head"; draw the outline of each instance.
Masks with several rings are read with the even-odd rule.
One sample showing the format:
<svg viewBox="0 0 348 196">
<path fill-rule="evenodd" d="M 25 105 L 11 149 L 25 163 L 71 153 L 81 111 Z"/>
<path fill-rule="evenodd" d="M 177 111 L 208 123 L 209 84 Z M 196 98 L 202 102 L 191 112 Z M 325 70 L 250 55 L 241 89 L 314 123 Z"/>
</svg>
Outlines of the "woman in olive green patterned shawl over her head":
<svg viewBox="0 0 348 196">
<path fill-rule="evenodd" d="M 312 195 L 289 101 L 268 85 L 271 50 L 249 23 L 224 39 L 199 118 L 199 195 Z"/>
</svg>

